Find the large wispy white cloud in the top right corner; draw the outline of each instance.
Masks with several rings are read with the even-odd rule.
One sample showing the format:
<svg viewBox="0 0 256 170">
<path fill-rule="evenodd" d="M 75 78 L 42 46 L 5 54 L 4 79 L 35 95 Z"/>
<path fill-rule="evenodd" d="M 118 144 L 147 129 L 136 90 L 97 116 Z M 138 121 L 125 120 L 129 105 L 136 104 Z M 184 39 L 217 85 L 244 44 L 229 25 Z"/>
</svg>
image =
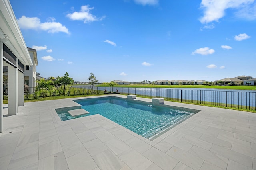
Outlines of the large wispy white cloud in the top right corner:
<svg viewBox="0 0 256 170">
<path fill-rule="evenodd" d="M 241 10 L 252 4 L 254 0 L 202 0 L 200 8 L 204 10 L 204 16 L 200 18 L 201 23 L 210 23 L 225 16 L 225 10 L 235 8 Z"/>
</svg>

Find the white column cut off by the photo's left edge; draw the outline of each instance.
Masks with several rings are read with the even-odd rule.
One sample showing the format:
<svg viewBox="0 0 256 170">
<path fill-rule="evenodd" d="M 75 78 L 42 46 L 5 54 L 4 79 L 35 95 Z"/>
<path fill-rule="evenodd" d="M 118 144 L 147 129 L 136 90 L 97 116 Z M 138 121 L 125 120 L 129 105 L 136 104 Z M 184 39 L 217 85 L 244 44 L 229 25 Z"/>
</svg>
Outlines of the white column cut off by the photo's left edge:
<svg viewBox="0 0 256 170">
<path fill-rule="evenodd" d="M 3 53 L 4 53 L 4 45 L 3 42 L 0 39 L 0 133 L 3 132 L 3 65 L 4 65 L 4 61 L 3 61 Z"/>
</svg>

